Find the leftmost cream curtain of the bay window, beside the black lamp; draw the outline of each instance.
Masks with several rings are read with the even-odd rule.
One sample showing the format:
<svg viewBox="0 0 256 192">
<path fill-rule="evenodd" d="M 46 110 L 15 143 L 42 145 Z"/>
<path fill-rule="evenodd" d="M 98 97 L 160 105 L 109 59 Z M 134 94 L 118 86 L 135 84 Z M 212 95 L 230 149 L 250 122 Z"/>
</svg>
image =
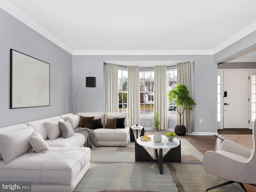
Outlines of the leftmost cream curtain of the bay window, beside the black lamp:
<svg viewBox="0 0 256 192">
<path fill-rule="evenodd" d="M 106 112 L 118 112 L 118 65 L 106 64 Z"/>
</svg>

